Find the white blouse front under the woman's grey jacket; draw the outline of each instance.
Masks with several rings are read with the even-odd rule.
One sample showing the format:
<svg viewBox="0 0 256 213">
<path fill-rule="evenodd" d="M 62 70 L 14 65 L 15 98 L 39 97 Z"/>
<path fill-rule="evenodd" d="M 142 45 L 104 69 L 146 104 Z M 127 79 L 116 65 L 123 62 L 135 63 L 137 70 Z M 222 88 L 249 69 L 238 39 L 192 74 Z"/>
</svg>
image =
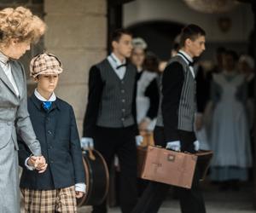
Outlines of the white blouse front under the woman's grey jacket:
<svg viewBox="0 0 256 213">
<path fill-rule="evenodd" d="M 3 53 L 1 52 L 0 52 L 0 66 L 2 67 L 3 72 L 5 73 L 7 78 L 9 79 L 9 82 L 12 84 L 13 88 L 15 89 L 15 94 L 19 96 L 20 92 L 19 92 L 19 89 L 17 88 L 17 84 L 15 83 L 15 78 L 13 76 L 11 66 L 9 64 L 9 57 L 7 57 L 6 55 L 3 55 Z"/>
</svg>

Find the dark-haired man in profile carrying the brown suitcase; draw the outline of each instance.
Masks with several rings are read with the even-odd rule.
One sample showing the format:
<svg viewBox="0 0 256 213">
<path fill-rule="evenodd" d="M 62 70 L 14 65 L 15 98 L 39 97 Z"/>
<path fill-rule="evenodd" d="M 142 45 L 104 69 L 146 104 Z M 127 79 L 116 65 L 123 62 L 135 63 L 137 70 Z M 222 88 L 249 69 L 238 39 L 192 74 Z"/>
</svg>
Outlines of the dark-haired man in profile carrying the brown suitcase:
<svg viewBox="0 0 256 213">
<path fill-rule="evenodd" d="M 189 153 L 195 153 L 199 147 L 194 132 L 196 73 L 193 58 L 205 50 L 205 36 L 204 30 L 195 25 L 186 26 L 181 32 L 181 49 L 162 76 L 160 112 L 154 129 L 156 145 Z M 158 212 L 168 190 L 169 185 L 150 182 L 132 213 Z M 183 213 L 206 212 L 196 170 L 191 189 L 177 187 L 177 193 Z"/>
</svg>

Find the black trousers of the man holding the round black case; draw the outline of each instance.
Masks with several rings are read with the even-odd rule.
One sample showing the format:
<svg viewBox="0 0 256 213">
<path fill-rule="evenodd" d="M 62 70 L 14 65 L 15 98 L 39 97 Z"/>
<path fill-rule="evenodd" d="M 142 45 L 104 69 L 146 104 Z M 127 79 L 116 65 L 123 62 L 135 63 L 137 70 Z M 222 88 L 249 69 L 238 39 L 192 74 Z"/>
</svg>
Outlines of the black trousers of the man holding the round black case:
<svg viewBox="0 0 256 213">
<path fill-rule="evenodd" d="M 135 126 L 125 128 L 96 127 L 95 148 L 110 168 L 113 157 L 119 158 L 119 201 L 123 213 L 131 213 L 137 203 L 137 147 Z M 99 177 L 101 178 L 101 177 Z M 93 213 L 106 213 L 106 200 L 93 206 Z"/>
</svg>

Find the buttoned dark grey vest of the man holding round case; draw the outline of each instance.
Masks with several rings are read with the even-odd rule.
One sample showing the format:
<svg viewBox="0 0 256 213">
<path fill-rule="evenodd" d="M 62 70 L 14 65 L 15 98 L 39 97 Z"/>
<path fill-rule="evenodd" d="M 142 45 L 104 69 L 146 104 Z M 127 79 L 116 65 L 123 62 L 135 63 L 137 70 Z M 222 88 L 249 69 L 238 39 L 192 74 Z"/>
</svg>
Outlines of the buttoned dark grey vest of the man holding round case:
<svg viewBox="0 0 256 213">
<path fill-rule="evenodd" d="M 100 70 L 104 88 L 96 124 L 102 127 L 121 128 L 135 124 L 132 101 L 136 83 L 136 68 L 128 64 L 125 77 L 120 79 L 108 60 L 96 67 Z"/>
</svg>

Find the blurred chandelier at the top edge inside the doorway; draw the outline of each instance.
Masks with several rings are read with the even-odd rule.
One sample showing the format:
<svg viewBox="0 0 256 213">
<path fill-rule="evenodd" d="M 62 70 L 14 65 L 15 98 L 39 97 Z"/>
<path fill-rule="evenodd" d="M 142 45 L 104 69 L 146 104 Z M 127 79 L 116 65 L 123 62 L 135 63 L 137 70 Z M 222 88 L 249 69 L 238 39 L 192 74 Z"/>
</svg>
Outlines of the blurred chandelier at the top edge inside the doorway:
<svg viewBox="0 0 256 213">
<path fill-rule="evenodd" d="M 183 0 L 191 9 L 196 11 L 215 14 L 224 13 L 234 9 L 238 4 L 235 0 Z"/>
</svg>

